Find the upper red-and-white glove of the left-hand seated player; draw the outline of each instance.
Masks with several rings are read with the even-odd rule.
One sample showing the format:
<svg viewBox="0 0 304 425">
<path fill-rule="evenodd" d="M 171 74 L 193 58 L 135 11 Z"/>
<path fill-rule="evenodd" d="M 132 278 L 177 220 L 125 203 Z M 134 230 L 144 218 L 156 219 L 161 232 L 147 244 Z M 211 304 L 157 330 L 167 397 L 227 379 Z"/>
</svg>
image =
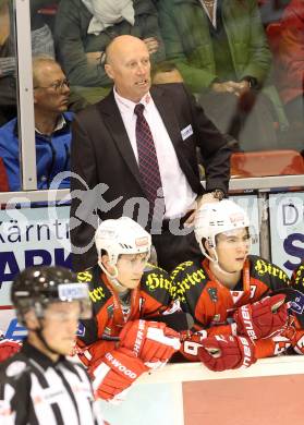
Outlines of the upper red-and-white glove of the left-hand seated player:
<svg viewBox="0 0 304 425">
<path fill-rule="evenodd" d="M 180 335 L 161 321 L 129 321 L 120 332 L 120 348 L 131 350 L 149 368 L 163 366 L 180 347 Z"/>
</svg>

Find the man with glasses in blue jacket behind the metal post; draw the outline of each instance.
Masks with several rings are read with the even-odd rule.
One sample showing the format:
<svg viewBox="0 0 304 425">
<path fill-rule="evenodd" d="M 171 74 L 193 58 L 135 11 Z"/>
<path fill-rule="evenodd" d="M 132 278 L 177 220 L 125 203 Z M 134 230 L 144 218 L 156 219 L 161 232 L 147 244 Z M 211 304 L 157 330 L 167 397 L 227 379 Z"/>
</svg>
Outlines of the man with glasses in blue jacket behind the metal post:
<svg viewBox="0 0 304 425">
<path fill-rule="evenodd" d="M 37 187 L 49 189 L 54 177 L 70 170 L 71 121 L 68 112 L 70 87 L 60 65 L 50 57 L 33 60 Z M 20 139 L 17 119 L 0 129 L 0 157 L 7 169 L 11 191 L 20 191 Z M 70 187 L 63 179 L 60 189 Z"/>
</svg>

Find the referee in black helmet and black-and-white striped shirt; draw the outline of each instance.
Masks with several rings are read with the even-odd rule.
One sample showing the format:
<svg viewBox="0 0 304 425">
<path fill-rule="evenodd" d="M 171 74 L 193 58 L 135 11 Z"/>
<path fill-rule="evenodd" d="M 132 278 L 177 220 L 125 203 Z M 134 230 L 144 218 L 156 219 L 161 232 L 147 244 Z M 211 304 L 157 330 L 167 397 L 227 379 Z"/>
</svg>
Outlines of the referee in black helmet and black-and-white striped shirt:
<svg viewBox="0 0 304 425">
<path fill-rule="evenodd" d="M 72 352 L 78 318 L 90 316 L 86 284 L 63 267 L 35 266 L 12 284 L 28 329 L 21 351 L 0 365 L 1 425 L 101 425 L 89 378 Z"/>
</svg>

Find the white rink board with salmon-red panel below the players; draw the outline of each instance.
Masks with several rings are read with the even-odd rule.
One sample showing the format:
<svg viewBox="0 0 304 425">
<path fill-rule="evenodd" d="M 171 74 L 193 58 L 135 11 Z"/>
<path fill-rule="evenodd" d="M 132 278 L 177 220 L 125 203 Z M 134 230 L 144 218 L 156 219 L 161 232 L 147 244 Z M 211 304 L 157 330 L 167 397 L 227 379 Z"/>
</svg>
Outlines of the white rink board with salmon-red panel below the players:
<svg viewBox="0 0 304 425">
<path fill-rule="evenodd" d="M 121 404 L 99 406 L 111 425 L 302 425 L 303 385 L 304 357 L 296 355 L 220 373 L 171 364 L 142 375 Z"/>
</svg>

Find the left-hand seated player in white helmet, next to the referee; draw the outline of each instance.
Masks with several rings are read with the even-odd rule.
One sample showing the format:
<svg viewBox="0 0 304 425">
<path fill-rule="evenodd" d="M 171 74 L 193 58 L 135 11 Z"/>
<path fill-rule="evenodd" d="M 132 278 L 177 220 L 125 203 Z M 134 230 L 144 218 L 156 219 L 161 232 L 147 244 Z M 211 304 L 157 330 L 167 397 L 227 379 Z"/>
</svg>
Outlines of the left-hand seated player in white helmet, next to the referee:
<svg viewBox="0 0 304 425">
<path fill-rule="evenodd" d="M 165 270 L 147 268 L 151 238 L 132 219 L 105 220 L 95 243 L 98 264 L 77 275 L 89 284 L 94 311 L 93 319 L 82 320 L 77 351 L 97 396 L 119 400 L 144 372 L 165 365 L 180 348 L 175 331 L 150 321 L 170 304 L 171 281 Z"/>
</svg>

